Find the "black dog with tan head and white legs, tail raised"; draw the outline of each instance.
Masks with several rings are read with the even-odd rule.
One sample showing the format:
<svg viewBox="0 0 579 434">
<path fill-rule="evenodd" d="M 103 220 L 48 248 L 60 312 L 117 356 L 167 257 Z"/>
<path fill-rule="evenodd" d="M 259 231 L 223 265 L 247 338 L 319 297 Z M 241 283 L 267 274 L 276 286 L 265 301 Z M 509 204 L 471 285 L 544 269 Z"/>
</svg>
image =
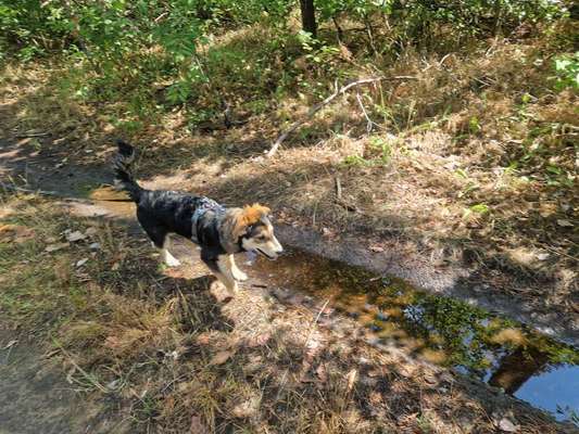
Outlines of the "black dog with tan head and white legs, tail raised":
<svg viewBox="0 0 579 434">
<path fill-rule="evenodd" d="M 284 247 L 274 234 L 269 208 L 257 203 L 229 207 L 205 197 L 176 191 L 147 190 L 131 171 L 135 148 L 117 140 L 113 159 L 115 188 L 124 190 L 137 205 L 137 219 L 153 245 L 161 250 L 163 261 L 180 265 L 171 252 L 171 234 L 181 235 L 201 247 L 201 259 L 229 293 L 248 279 L 234 258 L 240 252 L 255 252 L 277 259 Z"/>
</svg>

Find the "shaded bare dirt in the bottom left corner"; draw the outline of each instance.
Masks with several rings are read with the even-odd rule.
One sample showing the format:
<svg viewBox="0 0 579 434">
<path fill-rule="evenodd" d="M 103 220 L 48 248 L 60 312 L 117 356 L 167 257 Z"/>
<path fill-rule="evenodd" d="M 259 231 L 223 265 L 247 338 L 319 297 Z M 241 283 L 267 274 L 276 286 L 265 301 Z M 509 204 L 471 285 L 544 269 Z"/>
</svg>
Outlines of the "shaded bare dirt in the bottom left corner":
<svg viewBox="0 0 579 434">
<path fill-rule="evenodd" d="M 26 337 L 0 329 L 0 434 L 129 432 L 114 403 L 75 392 L 60 363 Z"/>
</svg>

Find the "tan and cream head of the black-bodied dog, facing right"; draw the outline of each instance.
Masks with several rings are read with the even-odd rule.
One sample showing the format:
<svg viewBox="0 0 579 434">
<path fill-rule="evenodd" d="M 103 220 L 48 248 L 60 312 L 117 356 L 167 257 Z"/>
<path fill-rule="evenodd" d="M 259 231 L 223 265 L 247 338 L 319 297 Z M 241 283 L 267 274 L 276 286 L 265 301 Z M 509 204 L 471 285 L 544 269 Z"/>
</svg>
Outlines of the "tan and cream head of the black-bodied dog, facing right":
<svg viewBox="0 0 579 434">
<path fill-rule="evenodd" d="M 247 252 L 255 252 L 268 259 L 277 259 L 284 247 L 274 234 L 268 217 L 269 208 L 260 204 L 237 208 L 230 215 L 235 243 Z"/>
</svg>

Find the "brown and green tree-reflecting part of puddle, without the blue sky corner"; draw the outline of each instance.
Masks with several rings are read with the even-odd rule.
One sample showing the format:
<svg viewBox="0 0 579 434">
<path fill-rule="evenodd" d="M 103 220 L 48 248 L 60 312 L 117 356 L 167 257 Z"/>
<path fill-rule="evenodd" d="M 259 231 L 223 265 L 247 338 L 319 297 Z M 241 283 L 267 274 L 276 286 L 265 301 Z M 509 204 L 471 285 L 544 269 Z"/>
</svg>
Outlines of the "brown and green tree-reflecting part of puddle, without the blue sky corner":
<svg viewBox="0 0 579 434">
<path fill-rule="evenodd" d="M 441 356 L 436 362 L 463 367 L 481 380 L 492 372 L 490 383 L 507 393 L 547 365 L 579 363 L 577 350 L 467 303 L 303 252 L 280 260 L 276 276 L 282 276 L 284 285 L 330 297 L 337 308 L 375 328 L 379 337 L 400 340 L 425 357 L 427 348 L 436 350 Z M 254 267 L 260 269 L 260 263 Z"/>
</svg>

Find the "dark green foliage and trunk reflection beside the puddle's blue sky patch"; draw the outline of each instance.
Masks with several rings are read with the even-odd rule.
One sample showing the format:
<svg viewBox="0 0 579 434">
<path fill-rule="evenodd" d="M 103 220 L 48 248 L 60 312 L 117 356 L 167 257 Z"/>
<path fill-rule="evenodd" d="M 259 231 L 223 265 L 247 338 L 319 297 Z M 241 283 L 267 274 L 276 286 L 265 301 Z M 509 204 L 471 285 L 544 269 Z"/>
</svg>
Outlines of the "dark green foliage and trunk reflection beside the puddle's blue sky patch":
<svg viewBox="0 0 579 434">
<path fill-rule="evenodd" d="M 491 319 L 460 301 L 416 293 L 403 310 L 402 327 L 428 346 L 443 349 L 449 365 L 462 366 L 482 379 L 498 359 L 489 383 L 508 394 L 549 366 L 579 362 L 572 348 L 525 333 L 506 320 Z"/>
</svg>

